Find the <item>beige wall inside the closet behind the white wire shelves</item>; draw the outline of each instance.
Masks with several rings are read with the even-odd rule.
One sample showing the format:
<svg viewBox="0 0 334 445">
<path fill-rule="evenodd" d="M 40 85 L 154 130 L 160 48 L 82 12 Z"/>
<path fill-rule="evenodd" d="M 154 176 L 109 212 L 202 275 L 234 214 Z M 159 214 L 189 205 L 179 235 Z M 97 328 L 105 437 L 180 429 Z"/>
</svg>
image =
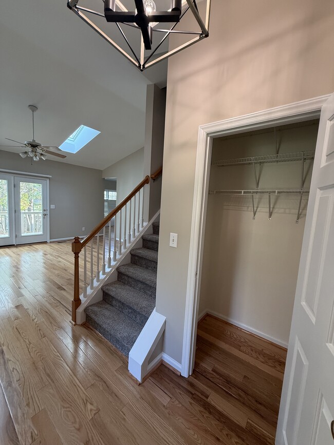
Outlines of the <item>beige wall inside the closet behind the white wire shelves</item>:
<svg viewBox="0 0 334 445">
<path fill-rule="evenodd" d="M 318 121 L 241 133 L 213 141 L 212 163 L 226 159 L 314 150 Z M 312 160 L 304 161 L 309 189 Z M 256 165 L 258 189 L 300 189 L 301 161 Z M 255 189 L 252 165 L 211 165 L 210 190 Z M 287 346 L 308 195 L 209 194 L 199 318 L 209 312 Z"/>
</svg>

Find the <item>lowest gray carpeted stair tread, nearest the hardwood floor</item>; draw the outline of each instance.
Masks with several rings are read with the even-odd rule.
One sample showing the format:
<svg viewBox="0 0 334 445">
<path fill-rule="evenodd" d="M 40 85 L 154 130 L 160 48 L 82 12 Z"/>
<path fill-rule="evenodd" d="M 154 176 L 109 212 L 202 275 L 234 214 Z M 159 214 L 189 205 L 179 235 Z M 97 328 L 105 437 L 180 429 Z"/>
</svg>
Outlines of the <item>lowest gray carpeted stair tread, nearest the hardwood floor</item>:
<svg viewBox="0 0 334 445">
<path fill-rule="evenodd" d="M 104 300 L 88 306 L 85 313 L 130 349 L 142 330 L 141 325 Z"/>
</svg>

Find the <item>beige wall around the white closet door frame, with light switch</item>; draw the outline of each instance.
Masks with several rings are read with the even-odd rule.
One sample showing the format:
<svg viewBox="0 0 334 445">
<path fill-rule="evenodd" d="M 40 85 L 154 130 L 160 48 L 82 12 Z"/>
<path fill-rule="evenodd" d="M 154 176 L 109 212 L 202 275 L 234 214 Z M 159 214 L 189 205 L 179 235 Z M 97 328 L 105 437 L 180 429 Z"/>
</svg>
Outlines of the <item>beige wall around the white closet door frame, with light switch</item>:
<svg viewBox="0 0 334 445">
<path fill-rule="evenodd" d="M 169 60 L 157 311 L 164 352 L 178 362 L 198 126 L 332 92 L 333 23 L 332 0 L 213 0 L 210 37 Z"/>
</svg>

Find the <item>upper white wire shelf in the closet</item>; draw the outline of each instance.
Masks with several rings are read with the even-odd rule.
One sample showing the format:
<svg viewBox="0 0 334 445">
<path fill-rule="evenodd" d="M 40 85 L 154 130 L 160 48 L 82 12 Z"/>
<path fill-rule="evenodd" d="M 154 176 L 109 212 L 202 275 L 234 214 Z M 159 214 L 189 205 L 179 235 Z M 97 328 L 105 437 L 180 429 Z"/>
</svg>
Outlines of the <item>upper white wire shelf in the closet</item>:
<svg viewBox="0 0 334 445">
<path fill-rule="evenodd" d="M 219 167 L 228 167 L 230 165 L 262 164 L 270 162 L 290 162 L 300 160 L 314 159 L 314 150 L 295 151 L 293 153 L 266 154 L 265 156 L 253 156 L 249 158 L 225 159 L 222 161 L 213 161 L 212 165 Z"/>
</svg>

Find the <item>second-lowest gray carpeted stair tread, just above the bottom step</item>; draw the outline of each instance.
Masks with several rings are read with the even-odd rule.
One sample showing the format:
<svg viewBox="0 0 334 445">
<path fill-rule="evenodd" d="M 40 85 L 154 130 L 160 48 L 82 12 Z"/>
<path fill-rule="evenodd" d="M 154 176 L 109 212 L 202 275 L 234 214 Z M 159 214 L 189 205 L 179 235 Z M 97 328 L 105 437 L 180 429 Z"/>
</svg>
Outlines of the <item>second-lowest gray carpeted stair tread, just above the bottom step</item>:
<svg viewBox="0 0 334 445">
<path fill-rule="evenodd" d="M 143 292 L 137 291 L 131 286 L 122 283 L 121 281 L 114 281 L 113 283 L 102 286 L 102 291 L 122 301 L 127 306 L 131 306 L 137 312 L 140 312 L 145 317 L 149 318 L 153 309 L 155 308 L 155 299 Z M 104 298 L 104 297 L 103 297 Z"/>
</svg>

